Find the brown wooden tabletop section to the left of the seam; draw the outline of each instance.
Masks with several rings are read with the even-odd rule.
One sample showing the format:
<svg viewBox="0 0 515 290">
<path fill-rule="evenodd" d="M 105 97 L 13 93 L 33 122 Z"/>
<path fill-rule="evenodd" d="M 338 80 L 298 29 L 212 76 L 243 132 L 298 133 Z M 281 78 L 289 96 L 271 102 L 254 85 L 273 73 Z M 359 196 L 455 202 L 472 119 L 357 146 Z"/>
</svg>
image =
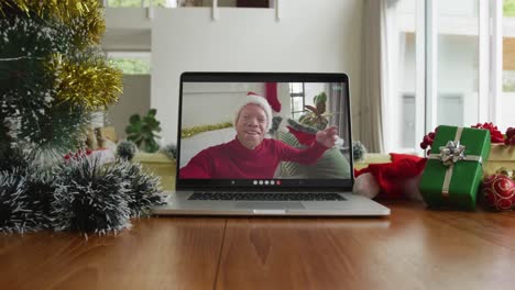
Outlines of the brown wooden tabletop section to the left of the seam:
<svg viewBox="0 0 515 290">
<path fill-rule="evenodd" d="M 0 235 L 0 289 L 211 289 L 226 220 L 152 217 L 117 236 Z"/>
</svg>

